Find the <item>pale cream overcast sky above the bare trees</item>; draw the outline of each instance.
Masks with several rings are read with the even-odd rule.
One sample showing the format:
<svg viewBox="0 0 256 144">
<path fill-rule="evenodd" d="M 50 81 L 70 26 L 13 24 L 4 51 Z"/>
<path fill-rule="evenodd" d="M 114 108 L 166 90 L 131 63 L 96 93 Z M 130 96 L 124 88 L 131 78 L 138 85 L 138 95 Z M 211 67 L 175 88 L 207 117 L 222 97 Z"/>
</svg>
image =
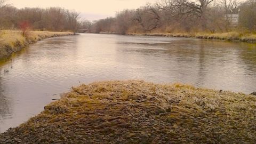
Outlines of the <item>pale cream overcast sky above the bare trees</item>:
<svg viewBox="0 0 256 144">
<path fill-rule="evenodd" d="M 59 6 L 76 10 L 88 20 L 113 17 L 117 11 L 137 9 L 147 2 L 154 3 L 156 0 L 9 0 L 9 3 L 18 8 Z"/>
</svg>

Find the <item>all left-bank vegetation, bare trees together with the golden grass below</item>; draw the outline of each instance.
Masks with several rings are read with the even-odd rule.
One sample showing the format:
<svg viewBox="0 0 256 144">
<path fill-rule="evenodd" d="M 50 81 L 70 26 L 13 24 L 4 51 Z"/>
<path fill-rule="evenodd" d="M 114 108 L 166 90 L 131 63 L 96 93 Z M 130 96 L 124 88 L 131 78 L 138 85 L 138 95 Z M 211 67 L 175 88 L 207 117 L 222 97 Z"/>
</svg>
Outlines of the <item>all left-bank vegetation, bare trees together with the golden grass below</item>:
<svg viewBox="0 0 256 144">
<path fill-rule="evenodd" d="M 75 32 L 80 24 L 79 13 L 75 11 L 60 7 L 17 9 L 7 0 L 0 0 L 0 15 L 0 59 L 41 39 L 73 34 L 50 31 Z"/>
</svg>

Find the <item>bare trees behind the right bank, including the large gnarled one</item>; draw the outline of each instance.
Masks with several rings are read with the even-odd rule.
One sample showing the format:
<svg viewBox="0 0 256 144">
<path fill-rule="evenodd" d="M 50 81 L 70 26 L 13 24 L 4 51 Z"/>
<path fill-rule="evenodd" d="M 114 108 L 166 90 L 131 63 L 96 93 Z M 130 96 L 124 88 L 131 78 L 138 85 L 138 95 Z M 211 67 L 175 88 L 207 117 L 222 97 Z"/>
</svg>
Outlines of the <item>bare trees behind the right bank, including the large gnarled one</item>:
<svg viewBox="0 0 256 144">
<path fill-rule="evenodd" d="M 236 22 L 236 17 L 237 22 Z M 256 31 L 256 0 L 159 0 L 115 17 L 84 21 L 90 33 L 224 33 Z"/>
</svg>

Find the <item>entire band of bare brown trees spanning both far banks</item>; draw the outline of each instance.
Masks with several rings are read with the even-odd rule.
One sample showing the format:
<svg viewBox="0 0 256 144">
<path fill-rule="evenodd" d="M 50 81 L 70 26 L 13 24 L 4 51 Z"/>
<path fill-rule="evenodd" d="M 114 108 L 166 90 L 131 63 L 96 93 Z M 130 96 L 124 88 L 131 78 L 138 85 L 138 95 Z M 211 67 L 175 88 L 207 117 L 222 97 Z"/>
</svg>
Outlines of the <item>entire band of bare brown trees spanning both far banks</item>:
<svg viewBox="0 0 256 144">
<path fill-rule="evenodd" d="M 83 29 L 89 33 L 256 31 L 256 0 L 158 0 L 93 22 L 82 21 L 78 12 L 60 7 L 17 9 L 6 2 L 0 0 L 0 30 L 20 29 L 25 22 L 34 30 L 76 32 Z"/>
</svg>

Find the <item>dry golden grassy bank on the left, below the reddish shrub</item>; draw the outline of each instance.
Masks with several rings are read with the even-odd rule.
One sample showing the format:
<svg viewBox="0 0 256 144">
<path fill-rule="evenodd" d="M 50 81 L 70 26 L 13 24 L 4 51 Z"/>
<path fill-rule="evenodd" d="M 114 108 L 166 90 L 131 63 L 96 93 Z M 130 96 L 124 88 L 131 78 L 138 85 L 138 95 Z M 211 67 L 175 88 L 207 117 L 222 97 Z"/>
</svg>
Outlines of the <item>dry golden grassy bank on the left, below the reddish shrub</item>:
<svg viewBox="0 0 256 144">
<path fill-rule="evenodd" d="M 0 59 L 8 58 L 13 52 L 20 51 L 29 44 L 45 38 L 74 35 L 70 32 L 31 31 L 28 37 L 23 37 L 21 31 L 0 31 Z"/>
</svg>

